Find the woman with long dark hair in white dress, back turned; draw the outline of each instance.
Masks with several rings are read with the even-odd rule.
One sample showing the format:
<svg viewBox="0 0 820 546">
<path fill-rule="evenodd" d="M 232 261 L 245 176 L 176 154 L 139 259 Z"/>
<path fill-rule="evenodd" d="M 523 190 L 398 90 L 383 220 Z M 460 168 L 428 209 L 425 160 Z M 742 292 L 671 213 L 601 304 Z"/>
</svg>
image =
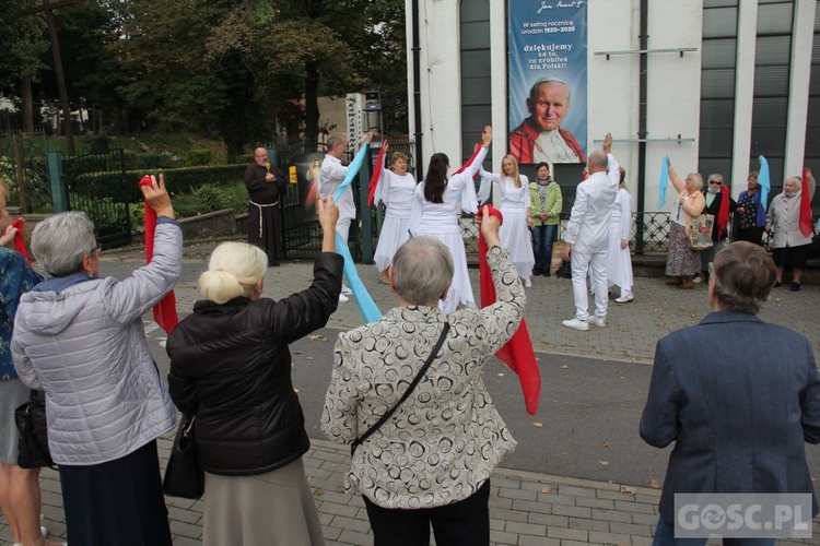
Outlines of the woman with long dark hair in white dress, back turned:
<svg viewBox="0 0 820 546">
<path fill-rule="evenodd" d="M 458 225 L 458 203 L 464 212 L 478 212 L 476 186 L 472 177 L 478 174 L 481 163 L 492 141 L 492 128 L 484 127 L 481 133 L 481 149 L 464 171 L 447 179 L 449 158 L 446 154 L 433 154 L 430 158 L 424 181 L 415 187 L 413 207 L 410 214 L 412 235 L 432 235 L 441 239 L 453 253 L 453 284 L 443 294 L 438 307 L 445 313 L 455 311 L 458 306 L 476 307 L 470 276 L 467 273 L 467 253 L 464 249 L 461 227 Z"/>
</svg>

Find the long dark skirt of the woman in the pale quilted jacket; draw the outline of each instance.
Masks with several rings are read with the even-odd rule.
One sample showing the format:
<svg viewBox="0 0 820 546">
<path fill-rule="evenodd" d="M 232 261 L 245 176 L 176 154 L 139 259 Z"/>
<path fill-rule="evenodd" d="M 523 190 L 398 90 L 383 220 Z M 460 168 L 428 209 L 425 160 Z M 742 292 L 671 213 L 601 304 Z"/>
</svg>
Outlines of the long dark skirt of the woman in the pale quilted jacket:
<svg viewBox="0 0 820 546">
<path fill-rule="evenodd" d="M 116 461 L 60 465 L 68 543 L 171 546 L 156 441 Z"/>
</svg>

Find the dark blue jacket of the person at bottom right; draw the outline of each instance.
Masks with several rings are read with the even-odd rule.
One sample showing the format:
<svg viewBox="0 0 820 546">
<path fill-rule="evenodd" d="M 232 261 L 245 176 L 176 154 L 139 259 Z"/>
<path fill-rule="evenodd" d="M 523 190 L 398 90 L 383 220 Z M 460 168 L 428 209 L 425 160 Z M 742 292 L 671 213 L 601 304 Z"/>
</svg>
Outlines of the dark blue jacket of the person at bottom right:
<svg viewBox="0 0 820 546">
<path fill-rule="evenodd" d="M 641 438 L 675 441 L 660 517 L 676 492 L 815 491 L 805 442 L 820 442 L 820 373 L 803 335 L 757 317 L 712 312 L 655 349 Z"/>
</svg>

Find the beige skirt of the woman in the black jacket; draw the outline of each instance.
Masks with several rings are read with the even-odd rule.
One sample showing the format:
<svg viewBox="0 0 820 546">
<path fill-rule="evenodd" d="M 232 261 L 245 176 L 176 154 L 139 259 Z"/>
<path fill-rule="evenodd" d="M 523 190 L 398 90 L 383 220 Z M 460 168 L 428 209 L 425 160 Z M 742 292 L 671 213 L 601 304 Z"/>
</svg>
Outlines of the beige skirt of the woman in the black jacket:
<svg viewBox="0 0 820 546">
<path fill-rule="evenodd" d="M 302 459 L 266 474 L 206 473 L 204 546 L 324 545 Z"/>
</svg>

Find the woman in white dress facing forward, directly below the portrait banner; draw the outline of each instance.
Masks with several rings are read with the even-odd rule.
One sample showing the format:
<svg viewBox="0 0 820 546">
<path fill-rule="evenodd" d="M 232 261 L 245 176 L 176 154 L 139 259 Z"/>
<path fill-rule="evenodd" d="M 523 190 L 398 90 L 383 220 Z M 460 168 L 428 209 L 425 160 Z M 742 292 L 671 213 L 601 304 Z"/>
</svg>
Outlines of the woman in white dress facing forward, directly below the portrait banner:
<svg viewBox="0 0 820 546">
<path fill-rule="evenodd" d="M 509 251 L 509 261 L 522 277 L 524 286 L 532 286 L 532 266 L 536 258 L 532 253 L 532 241 L 528 228 L 535 227 L 530 218 L 529 180 L 518 173 L 518 162 L 507 154 L 501 161 L 502 174 L 495 175 L 481 168 L 482 188 L 479 190 L 479 201 L 484 201 L 490 194 L 491 183 L 495 182 L 501 190 L 501 213 L 504 223 L 501 225 L 499 237 L 501 244 Z M 484 195 L 487 193 L 487 195 Z M 482 199 L 483 198 L 483 199 Z"/>
</svg>

